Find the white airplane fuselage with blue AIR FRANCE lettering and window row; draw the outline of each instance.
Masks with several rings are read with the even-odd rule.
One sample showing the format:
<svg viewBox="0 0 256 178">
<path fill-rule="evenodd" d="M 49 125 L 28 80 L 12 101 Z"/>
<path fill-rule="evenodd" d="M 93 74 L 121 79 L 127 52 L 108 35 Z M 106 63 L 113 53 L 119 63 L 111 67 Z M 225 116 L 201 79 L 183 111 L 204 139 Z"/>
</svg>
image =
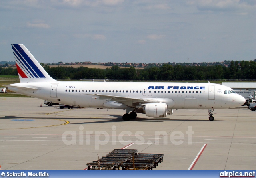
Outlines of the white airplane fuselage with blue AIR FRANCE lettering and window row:
<svg viewBox="0 0 256 178">
<path fill-rule="evenodd" d="M 224 109 L 244 104 L 244 98 L 229 87 L 214 83 L 157 82 L 31 82 L 13 84 L 37 90 L 8 89 L 32 97 L 79 107 L 103 107 L 109 102 L 97 95 L 155 99 L 170 109 Z M 138 105 L 140 103 L 136 103 Z M 113 107 L 115 108 L 115 107 Z M 121 108 L 118 108 L 121 109 Z M 123 108 L 124 109 L 124 108 Z"/>
</svg>

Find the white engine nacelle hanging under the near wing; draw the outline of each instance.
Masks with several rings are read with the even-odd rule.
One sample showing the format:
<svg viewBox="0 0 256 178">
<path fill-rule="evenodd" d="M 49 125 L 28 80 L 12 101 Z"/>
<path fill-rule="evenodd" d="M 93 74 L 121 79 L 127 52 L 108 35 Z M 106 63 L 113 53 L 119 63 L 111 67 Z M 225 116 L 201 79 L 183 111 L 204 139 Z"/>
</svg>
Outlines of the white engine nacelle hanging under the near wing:
<svg viewBox="0 0 256 178">
<path fill-rule="evenodd" d="M 136 109 L 137 113 L 146 114 L 146 116 L 154 118 L 166 117 L 167 111 L 166 103 L 148 103 Z"/>
</svg>

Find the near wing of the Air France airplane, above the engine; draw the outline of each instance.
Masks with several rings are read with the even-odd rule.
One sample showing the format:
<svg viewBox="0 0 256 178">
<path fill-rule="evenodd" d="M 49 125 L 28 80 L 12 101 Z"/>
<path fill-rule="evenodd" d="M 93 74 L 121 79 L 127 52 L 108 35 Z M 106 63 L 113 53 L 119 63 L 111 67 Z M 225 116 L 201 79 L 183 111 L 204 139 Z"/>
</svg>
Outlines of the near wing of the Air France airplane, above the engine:
<svg viewBox="0 0 256 178">
<path fill-rule="evenodd" d="M 158 99 L 154 98 L 131 98 L 131 97 L 119 97 L 112 95 L 101 95 L 101 94 L 87 94 L 92 96 L 98 96 L 95 99 L 106 99 L 107 101 L 118 101 L 118 102 L 132 102 L 132 103 L 162 103 Z"/>
</svg>

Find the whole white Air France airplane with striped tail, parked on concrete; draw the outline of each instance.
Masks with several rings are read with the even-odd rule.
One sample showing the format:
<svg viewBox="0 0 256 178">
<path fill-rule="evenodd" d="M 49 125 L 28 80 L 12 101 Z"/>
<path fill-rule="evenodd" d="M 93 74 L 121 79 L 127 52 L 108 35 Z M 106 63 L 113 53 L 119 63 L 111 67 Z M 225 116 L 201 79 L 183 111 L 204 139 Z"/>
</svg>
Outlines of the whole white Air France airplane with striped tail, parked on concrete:
<svg viewBox="0 0 256 178">
<path fill-rule="evenodd" d="M 57 81 L 23 44 L 12 44 L 12 50 L 20 83 L 5 85 L 9 90 L 65 105 L 123 109 L 124 121 L 137 113 L 164 118 L 174 109 L 208 109 L 213 121 L 214 109 L 245 103 L 230 87 L 214 83 Z"/>
</svg>

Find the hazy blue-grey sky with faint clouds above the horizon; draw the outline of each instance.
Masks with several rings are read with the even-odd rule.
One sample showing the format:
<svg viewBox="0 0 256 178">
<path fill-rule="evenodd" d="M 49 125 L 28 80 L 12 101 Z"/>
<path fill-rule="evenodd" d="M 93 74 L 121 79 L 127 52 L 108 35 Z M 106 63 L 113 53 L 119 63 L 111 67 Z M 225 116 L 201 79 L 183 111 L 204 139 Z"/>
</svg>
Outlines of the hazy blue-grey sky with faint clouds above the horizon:
<svg viewBox="0 0 256 178">
<path fill-rule="evenodd" d="M 1 0 L 0 61 L 200 63 L 256 58 L 256 0 Z"/>
</svg>

